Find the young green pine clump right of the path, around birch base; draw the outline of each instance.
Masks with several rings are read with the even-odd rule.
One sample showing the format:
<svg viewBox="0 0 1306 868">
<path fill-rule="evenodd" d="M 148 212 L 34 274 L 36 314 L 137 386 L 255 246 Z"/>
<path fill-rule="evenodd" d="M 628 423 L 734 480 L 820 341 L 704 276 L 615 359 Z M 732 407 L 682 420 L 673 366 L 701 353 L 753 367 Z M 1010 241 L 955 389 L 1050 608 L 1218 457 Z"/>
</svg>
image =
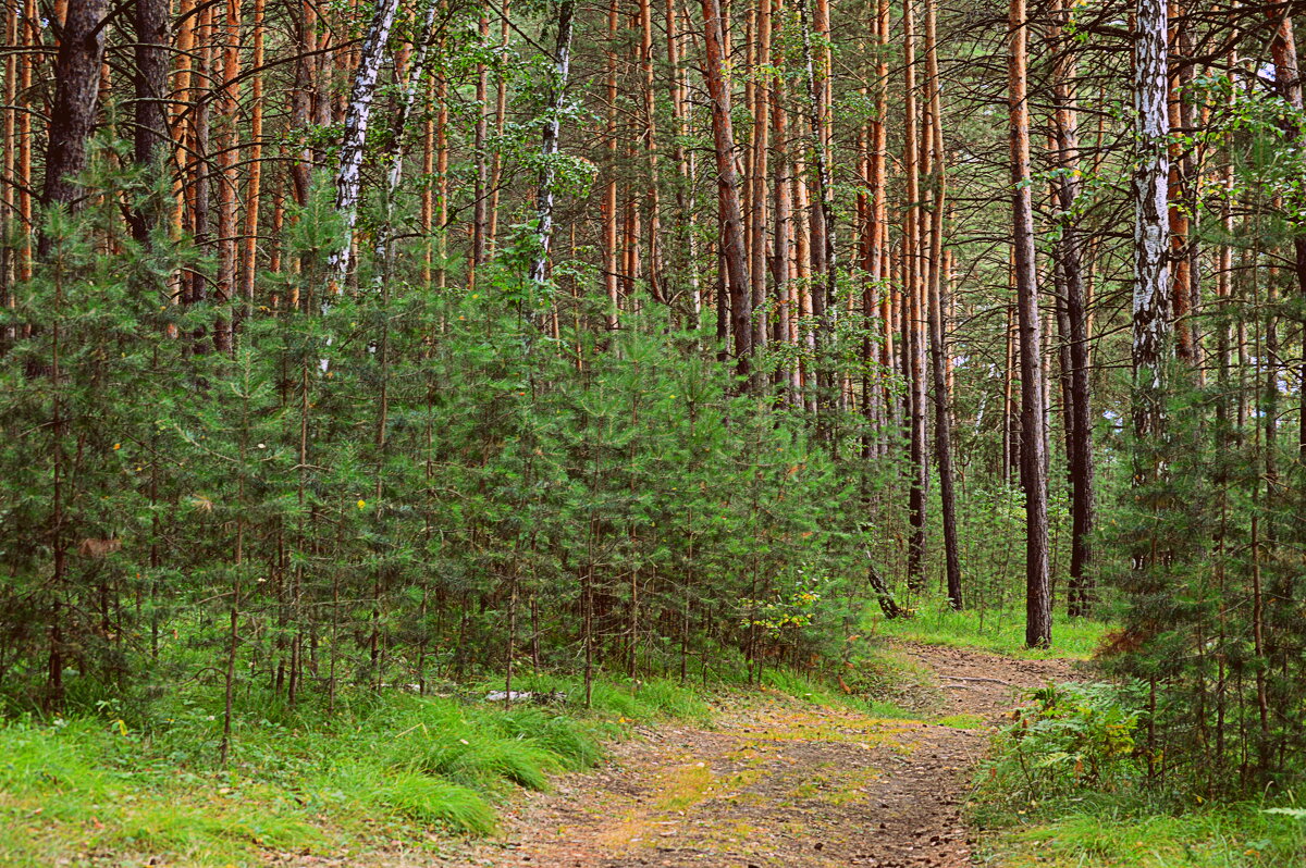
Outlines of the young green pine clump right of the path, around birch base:
<svg viewBox="0 0 1306 868">
<path fill-rule="evenodd" d="M 1220 328 L 1264 330 L 1275 313 L 1229 316 Z M 1290 437 L 1279 431 L 1281 373 L 1243 376 L 1247 389 L 1228 367 L 1174 389 L 1166 437 L 1127 444 L 1160 473 L 1140 474 L 1106 534 L 1130 553 L 1107 572 L 1122 604 L 1106 662 L 1156 688 L 1157 782 L 1207 799 L 1286 794 L 1306 771 L 1306 488 L 1296 423 Z M 1242 401 L 1251 422 L 1239 431 Z"/>
</svg>

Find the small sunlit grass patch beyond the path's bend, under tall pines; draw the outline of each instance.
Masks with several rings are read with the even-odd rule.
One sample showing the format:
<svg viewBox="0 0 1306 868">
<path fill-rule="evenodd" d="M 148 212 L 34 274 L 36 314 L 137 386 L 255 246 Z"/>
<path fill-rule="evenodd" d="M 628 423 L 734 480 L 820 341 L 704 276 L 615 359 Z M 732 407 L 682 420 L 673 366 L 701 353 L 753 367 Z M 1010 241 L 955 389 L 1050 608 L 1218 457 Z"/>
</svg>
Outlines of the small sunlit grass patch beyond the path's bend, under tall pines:
<svg viewBox="0 0 1306 868">
<path fill-rule="evenodd" d="M 1070 658 L 1085 660 L 1111 629 L 1104 621 L 1053 616 L 1053 646 L 1025 647 L 1024 612 L 973 610 L 953 611 L 946 602 L 931 602 L 913 617 L 888 620 L 871 612 L 866 629 L 875 636 L 889 636 L 912 642 L 973 647 L 1023 659 Z"/>
</svg>

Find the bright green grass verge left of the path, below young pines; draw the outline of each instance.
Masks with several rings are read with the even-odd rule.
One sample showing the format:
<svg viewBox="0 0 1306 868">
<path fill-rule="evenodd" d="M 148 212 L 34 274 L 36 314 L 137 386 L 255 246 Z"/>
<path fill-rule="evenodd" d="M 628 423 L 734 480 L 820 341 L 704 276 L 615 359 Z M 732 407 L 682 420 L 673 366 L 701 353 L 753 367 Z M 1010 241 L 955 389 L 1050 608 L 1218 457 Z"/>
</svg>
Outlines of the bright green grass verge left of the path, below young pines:
<svg viewBox="0 0 1306 868">
<path fill-rule="evenodd" d="M 542 689 L 529 681 L 520 689 Z M 133 719 L 0 723 L 0 865 L 260 865 L 269 852 L 353 854 L 393 839 L 439 850 L 498 829 L 521 788 L 603 757 L 626 723 L 704 721 L 707 702 L 673 683 L 596 683 L 592 709 L 554 681 L 559 706 L 410 693 L 342 696 L 345 710 L 244 697 L 227 766 L 221 715 L 200 698 Z"/>
</svg>

